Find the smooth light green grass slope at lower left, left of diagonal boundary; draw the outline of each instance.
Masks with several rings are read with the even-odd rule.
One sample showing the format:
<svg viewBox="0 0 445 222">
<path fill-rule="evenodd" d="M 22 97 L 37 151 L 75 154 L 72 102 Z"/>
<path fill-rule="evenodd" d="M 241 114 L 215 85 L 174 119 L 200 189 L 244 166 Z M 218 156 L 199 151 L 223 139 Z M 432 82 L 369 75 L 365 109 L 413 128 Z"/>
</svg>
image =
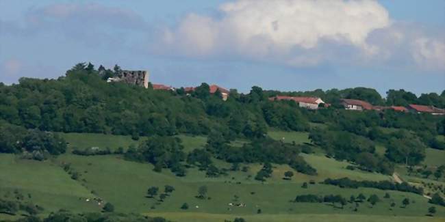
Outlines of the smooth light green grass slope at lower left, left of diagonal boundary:
<svg viewBox="0 0 445 222">
<path fill-rule="evenodd" d="M 59 208 L 88 210 L 88 205 L 79 197 L 93 195 L 84 186 L 71 180 L 68 174 L 50 161 L 18 160 L 12 154 L 0 155 L 0 195 L 13 195 L 15 189 L 31 200 L 45 206 L 49 212 Z"/>
</svg>

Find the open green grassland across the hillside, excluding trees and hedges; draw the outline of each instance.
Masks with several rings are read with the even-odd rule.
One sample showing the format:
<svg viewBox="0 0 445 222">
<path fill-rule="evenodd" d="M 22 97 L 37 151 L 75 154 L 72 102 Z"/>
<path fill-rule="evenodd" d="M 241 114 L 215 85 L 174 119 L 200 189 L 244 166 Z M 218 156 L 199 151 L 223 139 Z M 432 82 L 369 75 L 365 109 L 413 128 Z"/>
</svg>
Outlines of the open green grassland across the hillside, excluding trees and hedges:
<svg viewBox="0 0 445 222">
<path fill-rule="evenodd" d="M 272 133 L 274 135 L 274 133 Z M 83 144 L 88 146 L 109 146 L 118 148 L 133 142 L 129 137 L 91 134 L 68 134 L 70 145 Z M 186 151 L 203 148 L 205 137 L 179 136 Z M 275 138 L 283 137 L 283 133 L 275 133 Z M 284 137 L 298 139 L 298 143 L 307 142 L 307 134 L 286 134 Z M 68 138 L 69 139 L 69 138 Z M 68 140 L 67 139 L 67 140 Z M 79 141 L 82 140 L 82 141 Z M 288 140 L 292 142 L 292 140 Z M 236 141 L 242 145 L 243 141 Z M 297 141 L 296 141 L 297 143 Z M 114 145 L 112 145 L 114 144 Z M 174 176 L 168 169 L 162 173 L 154 172 L 153 165 L 134 163 L 123 160 L 119 155 L 106 156 L 76 156 L 63 154 L 49 161 L 19 160 L 12 154 L 0 154 L 0 195 L 11 193 L 18 189 L 21 193 L 31 194 L 32 202 L 44 206 L 44 214 L 65 208 L 74 212 L 97 212 L 101 210 L 94 202 L 86 202 L 88 197 L 101 197 L 106 202 L 114 204 L 118 212 L 139 212 L 150 216 L 162 216 L 179 222 L 187 221 L 224 221 L 243 217 L 247 221 L 440 221 L 445 219 L 445 208 L 436 206 L 435 218 L 424 217 L 427 208 L 431 206 L 427 199 L 413 193 L 387 191 L 391 199 L 383 199 L 386 191 L 377 189 L 341 189 L 337 186 L 325 184 L 309 184 L 303 189 L 301 184 L 309 180 L 321 181 L 325 178 L 349 177 L 355 180 L 389 180 L 388 176 L 372 174 L 364 171 L 345 169 L 350 163 L 335 161 L 322 154 L 302 154 L 303 158 L 318 170 L 318 176 L 306 176 L 294 171 L 292 180 L 283 180 L 283 173 L 290 169 L 287 165 L 273 165 L 273 174 L 266 182 L 253 180 L 256 172 L 262 167 L 259 164 L 248 165 L 249 170 L 229 171 L 228 176 L 207 178 L 205 172 L 196 168 L 188 169 L 186 177 Z M 440 159 L 440 158 L 439 158 Z M 214 160 L 222 168 L 229 168 L 230 164 Z M 79 180 L 72 180 L 60 167 L 62 163 L 70 163 L 71 168 L 81 176 Z M 174 186 L 176 191 L 164 202 L 147 198 L 150 186 Z M 196 199 L 199 186 L 208 187 L 211 199 Z M 94 195 L 92 195 L 94 193 Z M 377 194 L 382 202 L 371 208 L 369 204 L 361 204 L 358 212 L 348 204 L 341 209 L 329 204 L 293 203 L 290 200 L 301 194 L 341 194 L 348 198 L 350 195 L 364 193 L 367 197 Z M 245 207 L 231 207 L 228 204 L 236 202 Z M 412 202 L 406 209 L 401 208 L 403 198 L 409 197 Z M 396 203 L 393 210 L 389 210 L 390 202 Z M 181 210 L 180 206 L 188 203 L 188 210 Z M 151 207 L 155 206 L 154 209 Z M 196 207 L 198 206 L 198 207 Z M 257 214 L 261 209 L 262 214 Z M 394 215 L 396 217 L 394 217 Z M 0 214 L 0 221 L 9 216 Z"/>
</svg>

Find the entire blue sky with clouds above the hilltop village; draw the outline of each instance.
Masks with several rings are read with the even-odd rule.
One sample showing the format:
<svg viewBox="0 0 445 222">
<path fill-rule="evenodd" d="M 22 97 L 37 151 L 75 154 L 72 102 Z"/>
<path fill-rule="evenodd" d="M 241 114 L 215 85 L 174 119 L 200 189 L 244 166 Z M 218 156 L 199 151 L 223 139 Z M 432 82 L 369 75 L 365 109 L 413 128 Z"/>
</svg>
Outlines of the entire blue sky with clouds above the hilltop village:
<svg viewBox="0 0 445 222">
<path fill-rule="evenodd" d="M 246 92 L 442 92 L 444 0 L 0 0 L 0 82 L 78 62 Z"/>
</svg>

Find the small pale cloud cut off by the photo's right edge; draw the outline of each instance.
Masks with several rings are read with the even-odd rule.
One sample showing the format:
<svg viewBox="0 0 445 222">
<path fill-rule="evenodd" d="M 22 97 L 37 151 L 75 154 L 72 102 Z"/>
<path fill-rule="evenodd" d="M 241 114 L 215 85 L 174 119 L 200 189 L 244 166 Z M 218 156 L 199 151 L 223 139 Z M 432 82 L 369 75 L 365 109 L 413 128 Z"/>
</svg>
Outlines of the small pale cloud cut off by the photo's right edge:
<svg viewBox="0 0 445 222">
<path fill-rule="evenodd" d="M 418 38 L 411 48 L 414 60 L 427 69 L 445 69 L 445 43 L 437 39 Z"/>
</svg>

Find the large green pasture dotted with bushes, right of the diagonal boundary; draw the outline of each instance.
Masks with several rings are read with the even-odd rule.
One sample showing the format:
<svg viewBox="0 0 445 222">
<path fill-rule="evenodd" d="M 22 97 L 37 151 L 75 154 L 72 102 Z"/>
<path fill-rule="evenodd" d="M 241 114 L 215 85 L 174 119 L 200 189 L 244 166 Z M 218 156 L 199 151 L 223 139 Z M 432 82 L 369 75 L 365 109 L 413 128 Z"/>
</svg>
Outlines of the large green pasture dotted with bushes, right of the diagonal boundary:
<svg viewBox="0 0 445 222">
<path fill-rule="evenodd" d="M 89 189 L 94 190 L 100 197 L 112 202 L 116 209 L 123 212 L 181 212 L 179 207 L 183 202 L 188 202 L 191 208 L 187 212 L 197 213 L 211 213 L 211 214 L 255 214 L 257 208 L 261 208 L 266 214 L 351 214 L 351 209 L 345 207 L 344 210 L 336 209 L 327 204 L 294 204 L 290 203 L 297 194 L 314 193 L 319 195 L 338 193 L 345 197 L 350 195 L 358 195 L 364 193 L 369 196 L 376 193 L 383 197 L 385 191 L 376 189 L 340 189 L 336 186 L 329 186 L 324 184 L 310 185 L 309 189 L 301 188 L 304 180 L 295 178 L 292 181 L 285 181 L 279 183 L 266 182 L 261 184 L 259 182 L 235 184 L 233 182 L 218 181 L 213 182 L 206 178 L 194 178 L 194 181 L 176 178 L 168 171 L 163 171 L 162 174 L 157 174 L 151 171 L 153 166 L 149 164 L 131 163 L 123 161 L 117 156 L 88 156 L 79 157 L 73 155 L 64 155 L 61 157 L 66 162 L 72 165 L 78 171 L 88 171 L 81 178 L 86 179 L 86 184 Z M 230 181 L 231 177 L 223 178 Z M 273 180 L 273 179 L 272 179 Z M 166 202 L 157 206 L 155 210 L 150 207 L 155 204 L 154 199 L 144 197 L 149 186 L 164 186 L 166 184 L 175 186 L 177 191 L 172 196 L 166 199 Z M 201 200 L 196 199 L 196 191 L 201 185 L 206 185 L 209 189 L 209 196 L 212 199 Z M 255 192 L 255 195 L 251 195 Z M 409 210 L 403 208 L 396 208 L 394 211 L 388 210 L 390 205 L 389 200 L 377 204 L 374 208 L 361 206 L 359 211 L 364 214 L 383 214 L 383 215 L 422 215 L 427 206 L 427 199 L 420 195 L 401 192 L 388 192 L 394 198 L 396 204 L 399 205 L 403 197 L 409 197 L 416 202 L 409 206 Z M 233 195 L 240 197 L 240 202 L 246 204 L 245 208 L 233 208 L 231 211 L 227 210 L 227 204 L 233 202 Z M 199 208 L 194 208 L 199 206 Z M 258 206 L 258 207 L 257 207 Z M 444 209 L 438 209 L 438 214 L 445 215 Z"/>
</svg>

